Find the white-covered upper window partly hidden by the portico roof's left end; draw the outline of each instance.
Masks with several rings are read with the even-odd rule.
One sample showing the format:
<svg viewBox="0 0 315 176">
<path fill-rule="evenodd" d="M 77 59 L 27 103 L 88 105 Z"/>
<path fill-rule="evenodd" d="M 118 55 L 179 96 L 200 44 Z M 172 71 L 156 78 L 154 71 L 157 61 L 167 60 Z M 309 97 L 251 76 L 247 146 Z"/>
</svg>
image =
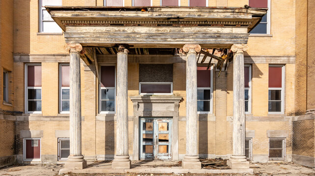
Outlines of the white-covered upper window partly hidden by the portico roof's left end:
<svg viewBox="0 0 315 176">
<path fill-rule="evenodd" d="M 39 32 L 61 33 L 62 29 L 51 18 L 45 6 L 62 6 L 61 0 L 39 0 Z"/>
</svg>

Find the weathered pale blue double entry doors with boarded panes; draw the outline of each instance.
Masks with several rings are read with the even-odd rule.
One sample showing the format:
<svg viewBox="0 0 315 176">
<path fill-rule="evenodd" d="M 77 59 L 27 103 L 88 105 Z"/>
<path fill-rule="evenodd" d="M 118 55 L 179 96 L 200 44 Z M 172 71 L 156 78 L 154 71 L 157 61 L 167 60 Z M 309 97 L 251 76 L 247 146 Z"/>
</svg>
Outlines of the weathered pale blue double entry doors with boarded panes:
<svg viewBox="0 0 315 176">
<path fill-rule="evenodd" d="M 172 158 L 172 118 L 140 119 L 140 158 L 146 160 Z"/>
</svg>

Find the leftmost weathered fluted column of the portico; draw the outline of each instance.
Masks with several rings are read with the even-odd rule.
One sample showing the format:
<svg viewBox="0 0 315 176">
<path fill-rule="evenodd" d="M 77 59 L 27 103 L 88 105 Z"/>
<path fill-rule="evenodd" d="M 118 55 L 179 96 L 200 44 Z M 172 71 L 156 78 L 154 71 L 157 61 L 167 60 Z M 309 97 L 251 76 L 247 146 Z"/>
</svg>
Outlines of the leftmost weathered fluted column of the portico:
<svg viewBox="0 0 315 176">
<path fill-rule="evenodd" d="M 65 44 L 70 52 L 70 155 L 64 165 L 66 169 L 83 169 L 86 160 L 81 154 L 81 44 Z"/>
</svg>

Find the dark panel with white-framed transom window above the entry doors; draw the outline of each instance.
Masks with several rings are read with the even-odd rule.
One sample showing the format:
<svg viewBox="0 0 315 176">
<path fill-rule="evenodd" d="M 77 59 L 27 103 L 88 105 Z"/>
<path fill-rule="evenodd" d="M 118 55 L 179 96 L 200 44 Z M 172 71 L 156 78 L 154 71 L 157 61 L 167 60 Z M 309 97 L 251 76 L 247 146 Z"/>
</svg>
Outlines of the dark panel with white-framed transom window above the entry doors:
<svg viewBox="0 0 315 176">
<path fill-rule="evenodd" d="M 140 64 L 139 93 L 140 94 L 172 94 L 173 65 L 172 64 Z"/>
</svg>

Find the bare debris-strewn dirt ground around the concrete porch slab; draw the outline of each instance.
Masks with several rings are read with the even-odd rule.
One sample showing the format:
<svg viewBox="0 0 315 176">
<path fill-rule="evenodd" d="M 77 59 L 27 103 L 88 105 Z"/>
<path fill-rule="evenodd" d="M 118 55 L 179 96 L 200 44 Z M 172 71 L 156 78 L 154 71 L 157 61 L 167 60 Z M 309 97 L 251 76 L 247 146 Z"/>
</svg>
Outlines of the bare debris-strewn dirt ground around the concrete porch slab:
<svg viewBox="0 0 315 176">
<path fill-rule="evenodd" d="M 209 174 L 64 174 L 58 175 L 63 165 L 16 165 L 0 169 L 0 176 L 209 176 Z M 315 176 L 315 169 L 294 163 L 253 163 L 254 175 L 246 176 Z M 242 174 L 216 174 L 214 176 L 243 176 Z"/>
</svg>

